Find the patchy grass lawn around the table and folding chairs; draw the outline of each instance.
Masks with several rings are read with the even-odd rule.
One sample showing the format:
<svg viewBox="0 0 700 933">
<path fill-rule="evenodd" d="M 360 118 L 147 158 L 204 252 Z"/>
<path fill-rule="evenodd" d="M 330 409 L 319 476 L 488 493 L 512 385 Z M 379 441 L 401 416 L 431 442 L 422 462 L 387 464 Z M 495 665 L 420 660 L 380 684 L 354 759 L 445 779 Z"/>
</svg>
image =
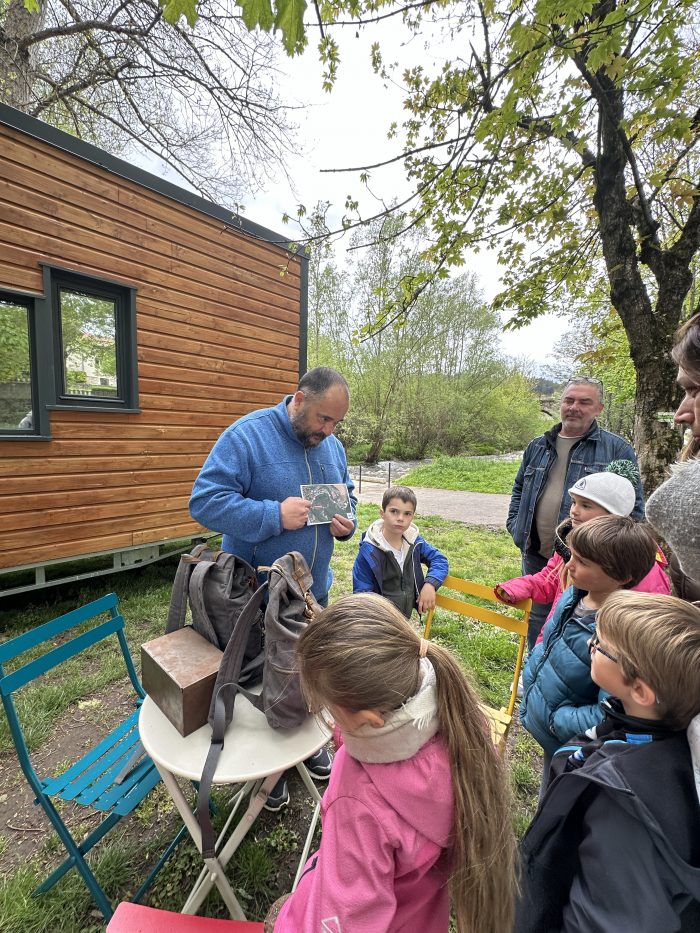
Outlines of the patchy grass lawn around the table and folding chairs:
<svg viewBox="0 0 700 933">
<path fill-rule="evenodd" d="M 478 461 L 484 463 L 492 461 Z M 503 465 L 503 464 L 499 464 Z M 505 464 L 513 467 L 515 465 Z M 430 485 L 434 483 L 431 481 Z M 376 507 L 361 505 L 359 526 L 367 527 L 376 517 Z M 441 518 L 422 517 L 421 532 L 444 551 L 450 570 L 493 585 L 519 573 L 519 554 L 509 535 L 462 525 Z M 335 582 L 333 596 L 351 591 L 352 563 L 357 538 L 341 542 L 333 559 Z M 11 637 L 39 625 L 76 605 L 105 592 L 116 591 L 127 622 L 127 637 L 138 662 L 142 642 L 164 630 L 170 588 L 176 561 L 169 560 L 129 573 L 99 578 L 89 584 L 65 586 L 34 596 L 23 595 L 0 604 L 0 632 Z M 516 645 L 512 637 L 488 626 L 460 623 L 449 613 L 436 613 L 432 637 L 448 646 L 471 672 L 486 702 L 506 702 L 512 678 Z M 115 682 L 119 669 L 109 652 L 94 652 L 60 683 L 38 686 L 27 698 L 25 713 L 30 717 L 32 744 L 42 748 L 61 729 L 61 723 L 76 711 L 76 697 L 92 695 L 98 708 L 108 706 L 119 689 Z M 537 752 L 532 740 L 517 729 L 511 742 L 509 761 L 513 778 L 513 819 L 522 832 L 531 818 L 537 800 L 539 775 Z M 42 751 L 43 754 L 43 751 Z M 26 784 L 14 758 L 4 714 L 0 716 L 0 803 L 8 802 Z M 225 792 L 219 792 L 225 794 Z M 298 800 L 297 809 L 294 808 Z M 263 813 L 251 836 L 241 846 L 231 867 L 235 872 L 236 894 L 251 919 L 262 919 L 269 903 L 288 886 L 289 872 L 280 865 L 292 865 L 298 859 L 305 828 L 302 822 L 308 807 L 297 788 L 292 792 L 292 807 L 281 815 Z M 223 808 L 222 808 L 223 809 Z M 12 811 L 10 811 L 12 816 Z M 179 817 L 168 794 L 159 786 L 133 817 L 125 820 L 102 845 L 96 847 L 98 875 L 108 896 L 115 902 L 126 898 L 144 877 L 144 866 L 172 836 Z M 10 820 L 11 822 L 11 820 Z M 20 822 L 17 820 L 16 822 Z M 14 823 L 13 823 L 14 825 Z M 123 827 L 123 828 L 122 828 Z M 74 871 L 69 872 L 48 894 L 37 899 L 31 891 L 46 874 L 46 865 L 57 862 L 60 848 L 53 834 L 25 834 L 22 851 L 17 838 L 6 825 L 0 825 L 0 931 L 2 933 L 43 933 L 62 929 L 80 933 L 98 933 L 104 929 L 87 890 Z M 26 854 L 25 854 L 26 853 Z M 181 844 L 168 866 L 161 872 L 145 902 L 156 907 L 178 910 L 194 882 L 198 857 L 190 842 Z M 226 916 L 216 890 L 204 911 L 210 916 Z"/>
</svg>

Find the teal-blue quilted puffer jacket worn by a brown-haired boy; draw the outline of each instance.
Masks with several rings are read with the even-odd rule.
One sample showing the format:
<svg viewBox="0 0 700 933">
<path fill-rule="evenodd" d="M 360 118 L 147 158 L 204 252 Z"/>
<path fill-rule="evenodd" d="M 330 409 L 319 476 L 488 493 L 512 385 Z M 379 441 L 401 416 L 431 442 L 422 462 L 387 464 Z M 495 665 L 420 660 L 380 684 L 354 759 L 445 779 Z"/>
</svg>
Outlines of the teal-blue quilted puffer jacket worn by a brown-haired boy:
<svg viewBox="0 0 700 933">
<path fill-rule="evenodd" d="M 583 595 L 573 586 L 562 593 L 523 668 L 520 722 L 549 755 L 603 718 L 599 703 L 607 693 L 591 679 L 588 648 L 595 612 L 574 616 Z"/>
</svg>

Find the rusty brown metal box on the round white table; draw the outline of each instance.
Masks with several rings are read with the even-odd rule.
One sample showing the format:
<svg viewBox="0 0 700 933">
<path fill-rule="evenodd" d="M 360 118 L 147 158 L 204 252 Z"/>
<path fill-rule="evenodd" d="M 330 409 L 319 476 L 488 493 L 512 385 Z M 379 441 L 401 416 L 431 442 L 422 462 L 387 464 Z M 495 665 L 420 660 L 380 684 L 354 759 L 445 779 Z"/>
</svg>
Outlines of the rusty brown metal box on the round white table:
<svg viewBox="0 0 700 933">
<path fill-rule="evenodd" d="M 190 625 L 141 645 L 143 688 L 180 735 L 207 721 L 222 655 Z"/>
</svg>

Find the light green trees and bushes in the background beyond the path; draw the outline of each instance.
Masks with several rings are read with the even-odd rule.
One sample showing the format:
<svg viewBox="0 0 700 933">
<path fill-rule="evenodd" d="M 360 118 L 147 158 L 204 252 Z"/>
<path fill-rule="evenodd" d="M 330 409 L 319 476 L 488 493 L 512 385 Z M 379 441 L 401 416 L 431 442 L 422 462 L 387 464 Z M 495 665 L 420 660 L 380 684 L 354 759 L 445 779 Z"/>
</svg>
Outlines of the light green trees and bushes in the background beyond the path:
<svg viewBox="0 0 700 933">
<path fill-rule="evenodd" d="M 310 228 L 324 232 L 323 206 Z M 353 403 L 339 436 L 369 461 L 428 453 L 494 453 L 524 447 L 544 421 L 519 366 L 500 350 L 498 315 L 484 302 L 473 274 L 427 286 L 410 326 L 368 327 L 407 275 L 425 265 L 420 237 L 395 236 L 396 213 L 355 231 L 342 274 L 327 239 L 311 249 L 309 365 L 339 369 Z M 363 339 L 358 339 L 364 334 Z"/>
</svg>

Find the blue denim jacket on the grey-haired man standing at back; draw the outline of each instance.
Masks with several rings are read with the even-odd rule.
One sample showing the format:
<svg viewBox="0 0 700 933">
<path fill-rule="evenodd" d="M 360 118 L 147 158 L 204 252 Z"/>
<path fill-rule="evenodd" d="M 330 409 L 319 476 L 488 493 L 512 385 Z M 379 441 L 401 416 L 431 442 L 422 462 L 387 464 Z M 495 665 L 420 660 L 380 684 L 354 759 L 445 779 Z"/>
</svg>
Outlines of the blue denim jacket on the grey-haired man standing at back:
<svg viewBox="0 0 700 933">
<path fill-rule="evenodd" d="M 544 491 L 550 468 L 557 458 L 556 439 L 560 431 L 561 424 L 556 424 L 534 441 L 530 441 L 515 477 L 506 528 L 521 551 L 527 550 L 529 546 L 535 508 Z M 571 448 L 557 524 L 569 514 L 571 498 L 568 490 L 574 483 L 589 473 L 601 473 L 613 460 L 631 460 L 636 464 L 637 455 L 624 438 L 611 431 L 604 431 L 598 426 L 598 422 L 594 421 L 588 433 Z M 632 518 L 641 520 L 644 517 L 644 489 L 641 479 L 637 483 L 636 493 Z"/>
</svg>

